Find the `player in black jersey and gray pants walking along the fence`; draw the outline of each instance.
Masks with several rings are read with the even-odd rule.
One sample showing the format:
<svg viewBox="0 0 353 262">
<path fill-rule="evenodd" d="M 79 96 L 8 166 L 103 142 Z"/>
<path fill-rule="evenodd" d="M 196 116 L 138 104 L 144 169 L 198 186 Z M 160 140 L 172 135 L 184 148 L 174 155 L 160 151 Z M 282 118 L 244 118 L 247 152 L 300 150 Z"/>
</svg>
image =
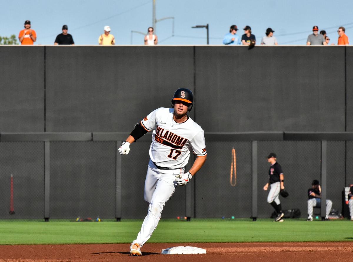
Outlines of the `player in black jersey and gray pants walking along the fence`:
<svg viewBox="0 0 353 262">
<path fill-rule="evenodd" d="M 264 186 L 264 190 L 266 191 L 270 184 L 271 189 L 267 196 L 267 202 L 271 206 L 273 206 L 273 208 L 277 213 L 277 217 L 275 218 L 275 221 L 283 222 L 282 218 L 284 214 L 282 212 L 282 206 L 279 198 L 280 191 L 282 189 L 285 189 L 285 186 L 283 185 L 284 176 L 282 172 L 282 167 L 279 163 L 276 162 L 277 156 L 275 153 L 270 153 L 267 158 L 271 166 L 268 171 L 269 182 Z"/>
</svg>

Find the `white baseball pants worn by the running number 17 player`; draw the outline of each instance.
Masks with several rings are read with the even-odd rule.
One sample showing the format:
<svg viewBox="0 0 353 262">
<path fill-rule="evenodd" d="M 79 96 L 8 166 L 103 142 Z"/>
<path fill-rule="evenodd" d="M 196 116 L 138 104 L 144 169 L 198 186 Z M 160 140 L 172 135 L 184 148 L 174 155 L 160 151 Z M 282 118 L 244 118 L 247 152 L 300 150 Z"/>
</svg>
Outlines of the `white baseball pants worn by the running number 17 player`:
<svg viewBox="0 0 353 262">
<path fill-rule="evenodd" d="M 177 182 L 175 182 L 174 174 L 184 173 L 183 169 L 157 169 L 154 163 L 150 160 L 148 164 L 144 198 L 150 203 L 148 206 L 148 213 L 143 220 L 141 230 L 137 238 L 132 244 L 138 243 L 143 246 L 151 237 L 153 231 L 156 229 L 161 218 L 161 213 L 164 205 L 173 195 Z"/>
</svg>

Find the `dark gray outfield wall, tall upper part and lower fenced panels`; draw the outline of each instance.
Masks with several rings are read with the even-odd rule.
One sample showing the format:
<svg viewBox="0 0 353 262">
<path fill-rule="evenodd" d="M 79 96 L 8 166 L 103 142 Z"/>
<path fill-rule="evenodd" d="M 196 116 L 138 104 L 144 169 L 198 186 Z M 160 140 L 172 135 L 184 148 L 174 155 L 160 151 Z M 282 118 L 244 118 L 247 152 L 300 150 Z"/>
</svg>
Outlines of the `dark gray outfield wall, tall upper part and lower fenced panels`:
<svg viewBox="0 0 353 262">
<path fill-rule="evenodd" d="M 129 132 L 150 111 L 169 107 L 179 87 L 195 92 L 190 116 L 205 132 L 353 131 L 352 57 L 348 46 L 0 46 L 0 132 Z M 146 214 L 148 140 L 121 158 L 122 218 Z M 186 194 L 191 217 L 251 216 L 251 141 L 209 139 L 207 147 L 205 166 L 169 200 L 164 218 L 184 216 Z M 283 207 L 304 217 L 307 188 L 321 174 L 320 142 L 258 142 L 259 217 L 272 212 L 262 190 L 270 151 L 291 193 Z M 328 142 L 327 198 L 338 210 L 340 191 L 353 183 L 352 157 L 353 142 Z M 115 158 L 114 141 L 50 142 L 50 217 L 114 218 Z M 13 218 L 11 173 L 16 218 L 43 218 L 44 143 L 0 142 L 0 161 L 0 218 Z"/>
</svg>

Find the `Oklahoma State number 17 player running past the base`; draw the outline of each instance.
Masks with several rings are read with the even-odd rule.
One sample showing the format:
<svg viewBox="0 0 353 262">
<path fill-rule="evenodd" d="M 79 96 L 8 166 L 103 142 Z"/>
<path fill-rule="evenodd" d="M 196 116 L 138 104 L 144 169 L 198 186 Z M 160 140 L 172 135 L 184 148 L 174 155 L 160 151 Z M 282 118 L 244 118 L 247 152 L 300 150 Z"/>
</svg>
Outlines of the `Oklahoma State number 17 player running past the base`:
<svg viewBox="0 0 353 262">
<path fill-rule="evenodd" d="M 141 247 L 156 229 L 164 205 L 173 195 L 177 186 L 184 186 L 206 161 L 204 132 L 188 115 L 193 106 L 193 93 L 186 88 L 175 91 L 172 108 L 158 108 L 135 126 L 119 148 L 121 155 L 127 155 L 130 144 L 152 131 L 149 150 L 144 199 L 149 202 L 137 238 L 131 243 L 130 255 L 140 256 Z M 185 172 L 190 152 L 197 156 L 191 169 Z"/>
</svg>

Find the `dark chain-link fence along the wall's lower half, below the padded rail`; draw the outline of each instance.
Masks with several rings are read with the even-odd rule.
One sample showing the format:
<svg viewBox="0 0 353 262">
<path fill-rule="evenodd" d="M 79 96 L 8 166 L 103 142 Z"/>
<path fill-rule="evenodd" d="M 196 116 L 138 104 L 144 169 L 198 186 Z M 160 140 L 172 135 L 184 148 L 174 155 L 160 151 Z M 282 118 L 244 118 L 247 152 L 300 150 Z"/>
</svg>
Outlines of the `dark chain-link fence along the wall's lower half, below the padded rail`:
<svg viewBox="0 0 353 262">
<path fill-rule="evenodd" d="M 116 154 L 119 143 L 50 142 L 50 218 L 115 218 L 119 207 L 121 218 L 145 217 L 148 203 L 143 200 L 143 194 L 150 141 L 133 143 L 129 155 L 122 157 Z M 233 148 L 235 154 L 232 154 Z M 268 191 L 264 191 L 263 186 L 268 182 L 267 155 L 270 152 L 277 154 L 289 192 L 288 198 L 281 198 L 283 210 L 299 208 L 301 216 L 306 217 L 307 190 L 313 179 L 321 182 L 321 141 L 257 142 L 255 185 L 251 141 L 207 141 L 207 151 L 208 159 L 202 169 L 187 187 L 177 188 L 162 218 L 185 216 L 189 208 L 186 202 L 190 204 L 191 217 L 249 218 L 254 188 L 257 216 L 269 217 L 273 208 L 267 203 Z M 45 157 L 44 142 L 0 142 L 0 218 L 43 218 Z M 352 157 L 353 142 L 327 142 L 326 197 L 333 202 L 335 210 L 341 211 L 341 192 L 353 183 L 353 164 L 349 161 Z M 191 157 L 189 167 L 193 160 Z M 117 180 L 119 172 L 121 180 Z M 9 214 L 11 174 L 14 215 Z"/>
</svg>

